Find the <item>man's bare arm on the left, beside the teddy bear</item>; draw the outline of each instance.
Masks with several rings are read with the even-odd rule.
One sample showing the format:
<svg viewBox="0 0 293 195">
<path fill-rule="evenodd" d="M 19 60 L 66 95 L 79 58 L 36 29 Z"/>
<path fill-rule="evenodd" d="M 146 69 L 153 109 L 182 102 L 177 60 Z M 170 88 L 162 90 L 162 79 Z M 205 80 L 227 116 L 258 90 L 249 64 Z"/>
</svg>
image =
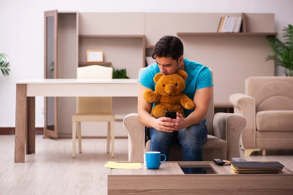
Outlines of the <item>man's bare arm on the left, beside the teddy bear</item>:
<svg viewBox="0 0 293 195">
<path fill-rule="evenodd" d="M 152 121 L 155 120 L 156 118 L 150 115 L 152 103 L 148 103 L 144 99 L 144 93 L 147 89 L 149 88 L 138 83 L 138 106 L 137 106 L 138 118 L 140 122 L 146 127 L 152 127 L 152 124 L 153 124 Z"/>
</svg>

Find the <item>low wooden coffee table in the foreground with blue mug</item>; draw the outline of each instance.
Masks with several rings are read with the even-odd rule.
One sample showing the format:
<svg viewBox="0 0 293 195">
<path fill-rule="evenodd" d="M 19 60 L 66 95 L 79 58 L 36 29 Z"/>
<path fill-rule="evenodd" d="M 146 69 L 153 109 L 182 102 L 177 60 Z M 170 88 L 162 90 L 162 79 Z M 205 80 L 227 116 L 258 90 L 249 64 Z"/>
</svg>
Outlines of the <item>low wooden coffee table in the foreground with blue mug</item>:
<svg viewBox="0 0 293 195">
<path fill-rule="evenodd" d="M 184 168 L 197 168 L 200 174 Z M 234 174 L 230 164 L 165 162 L 157 170 L 109 169 L 107 187 L 108 195 L 293 195 L 293 171 Z"/>
</svg>

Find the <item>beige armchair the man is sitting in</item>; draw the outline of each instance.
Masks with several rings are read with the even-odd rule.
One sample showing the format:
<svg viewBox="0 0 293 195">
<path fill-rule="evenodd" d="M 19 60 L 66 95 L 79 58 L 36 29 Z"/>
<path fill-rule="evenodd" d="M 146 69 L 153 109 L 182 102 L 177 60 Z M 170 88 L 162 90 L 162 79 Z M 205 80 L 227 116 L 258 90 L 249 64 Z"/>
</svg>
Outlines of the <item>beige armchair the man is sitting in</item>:
<svg viewBox="0 0 293 195">
<path fill-rule="evenodd" d="M 143 69 L 140 70 L 140 72 Z M 140 74 L 139 72 L 139 74 Z M 204 161 L 214 158 L 231 159 L 239 157 L 239 137 L 246 125 L 246 118 L 238 114 L 214 114 L 213 98 L 209 103 L 207 114 L 208 140 L 203 146 Z M 149 151 L 150 140 L 147 140 L 146 128 L 140 123 L 136 113 L 128 114 L 123 120 L 128 133 L 128 160 L 143 161 L 144 153 Z M 170 146 L 169 161 L 182 161 L 179 144 Z"/>
</svg>

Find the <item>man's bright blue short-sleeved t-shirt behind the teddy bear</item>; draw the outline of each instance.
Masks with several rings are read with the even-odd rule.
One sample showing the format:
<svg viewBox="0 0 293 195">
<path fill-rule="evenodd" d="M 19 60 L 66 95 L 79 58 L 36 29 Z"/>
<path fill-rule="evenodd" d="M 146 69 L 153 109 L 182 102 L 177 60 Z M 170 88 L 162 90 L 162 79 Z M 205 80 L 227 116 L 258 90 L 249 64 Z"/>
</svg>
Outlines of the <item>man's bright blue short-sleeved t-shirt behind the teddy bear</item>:
<svg viewBox="0 0 293 195">
<path fill-rule="evenodd" d="M 214 86 L 212 83 L 211 72 L 208 67 L 189 59 L 184 59 L 184 64 L 185 72 L 187 73 L 188 78 L 185 80 L 186 87 L 182 93 L 186 94 L 191 100 L 193 100 L 196 90 Z M 152 91 L 155 91 L 156 83 L 154 82 L 153 78 L 157 73 L 160 72 L 161 71 L 158 64 L 153 63 L 147 66 L 141 72 L 138 78 L 138 82 Z M 154 106 L 155 103 L 153 103 L 153 107 Z M 186 117 L 192 112 L 193 109 L 184 109 L 184 114 Z M 206 121 L 206 119 L 204 121 Z"/>
</svg>

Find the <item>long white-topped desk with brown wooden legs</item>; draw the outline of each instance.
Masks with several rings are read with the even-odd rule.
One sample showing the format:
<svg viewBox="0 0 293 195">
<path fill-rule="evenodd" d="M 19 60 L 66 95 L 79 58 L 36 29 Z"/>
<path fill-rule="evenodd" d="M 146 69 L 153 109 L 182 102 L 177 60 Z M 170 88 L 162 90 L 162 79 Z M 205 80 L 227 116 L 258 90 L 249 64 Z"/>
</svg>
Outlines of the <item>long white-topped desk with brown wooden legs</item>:
<svg viewBox="0 0 293 195">
<path fill-rule="evenodd" d="M 14 162 L 35 153 L 35 97 L 138 96 L 137 79 L 25 79 L 16 84 Z"/>
</svg>

